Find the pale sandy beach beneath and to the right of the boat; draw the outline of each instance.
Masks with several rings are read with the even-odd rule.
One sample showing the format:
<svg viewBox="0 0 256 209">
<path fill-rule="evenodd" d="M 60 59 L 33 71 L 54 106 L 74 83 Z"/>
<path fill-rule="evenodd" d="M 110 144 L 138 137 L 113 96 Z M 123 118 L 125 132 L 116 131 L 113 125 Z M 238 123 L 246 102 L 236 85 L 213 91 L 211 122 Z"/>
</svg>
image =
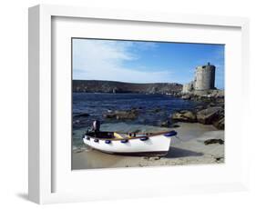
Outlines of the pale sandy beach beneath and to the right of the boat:
<svg viewBox="0 0 256 209">
<path fill-rule="evenodd" d="M 72 169 L 144 167 L 179 164 L 220 164 L 224 162 L 224 144 L 208 144 L 208 139 L 224 140 L 224 131 L 213 125 L 178 123 L 169 153 L 162 157 L 105 154 L 92 149 L 73 151 Z"/>
</svg>

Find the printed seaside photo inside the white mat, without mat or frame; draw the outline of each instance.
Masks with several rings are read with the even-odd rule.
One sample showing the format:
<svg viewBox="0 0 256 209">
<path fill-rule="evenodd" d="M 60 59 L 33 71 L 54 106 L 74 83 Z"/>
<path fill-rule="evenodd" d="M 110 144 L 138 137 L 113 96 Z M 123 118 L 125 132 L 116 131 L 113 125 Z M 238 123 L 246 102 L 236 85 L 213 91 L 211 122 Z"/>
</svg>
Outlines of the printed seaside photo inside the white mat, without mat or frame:
<svg viewBox="0 0 256 209">
<path fill-rule="evenodd" d="M 224 163 L 225 45 L 71 42 L 72 169 Z"/>
</svg>

